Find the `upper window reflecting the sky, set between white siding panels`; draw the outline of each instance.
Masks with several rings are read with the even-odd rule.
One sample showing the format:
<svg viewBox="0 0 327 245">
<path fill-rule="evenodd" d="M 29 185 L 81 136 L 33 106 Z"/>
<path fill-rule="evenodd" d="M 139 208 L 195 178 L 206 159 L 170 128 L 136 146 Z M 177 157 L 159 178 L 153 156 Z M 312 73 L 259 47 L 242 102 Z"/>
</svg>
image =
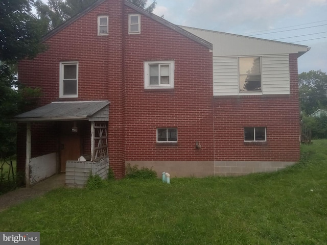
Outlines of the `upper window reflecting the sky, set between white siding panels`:
<svg viewBox="0 0 327 245">
<path fill-rule="evenodd" d="M 261 59 L 260 57 L 239 58 L 240 92 L 261 91 Z"/>
</svg>

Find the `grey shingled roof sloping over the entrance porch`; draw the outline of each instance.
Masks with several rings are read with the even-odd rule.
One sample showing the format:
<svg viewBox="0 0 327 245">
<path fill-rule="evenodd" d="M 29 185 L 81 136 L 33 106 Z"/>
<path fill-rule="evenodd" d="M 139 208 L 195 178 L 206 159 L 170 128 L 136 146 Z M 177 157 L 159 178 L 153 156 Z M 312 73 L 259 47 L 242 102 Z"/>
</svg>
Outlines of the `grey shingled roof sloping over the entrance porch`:
<svg viewBox="0 0 327 245">
<path fill-rule="evenodd" d="M 52 102 L 14 116 L 14 121 L 109 120 L 108 101 Z"/>
</svg>

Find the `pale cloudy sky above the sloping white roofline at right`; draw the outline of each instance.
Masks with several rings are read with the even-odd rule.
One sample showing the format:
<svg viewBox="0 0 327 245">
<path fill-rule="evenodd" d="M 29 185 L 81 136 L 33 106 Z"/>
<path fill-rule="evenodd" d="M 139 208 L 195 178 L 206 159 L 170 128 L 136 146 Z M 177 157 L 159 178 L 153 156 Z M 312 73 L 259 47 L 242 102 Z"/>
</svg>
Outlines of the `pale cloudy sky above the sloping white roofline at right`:
<svg viewBox="0 0 327 245">
<path fill-rule="evenodd" d="M 299 74 L 327 72 L 327 0 L 157 0 L 153 13 L 181 26 L 309 46 Z"/>
</svg>

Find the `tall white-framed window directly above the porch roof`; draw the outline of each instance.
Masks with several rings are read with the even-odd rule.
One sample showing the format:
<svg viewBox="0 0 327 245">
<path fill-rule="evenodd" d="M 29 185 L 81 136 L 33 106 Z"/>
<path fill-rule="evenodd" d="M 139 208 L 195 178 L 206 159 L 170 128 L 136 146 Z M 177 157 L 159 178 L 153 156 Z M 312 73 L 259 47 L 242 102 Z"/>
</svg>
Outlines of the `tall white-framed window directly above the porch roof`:
<svg viewBox="0 0 327 245">
<path fill-rule="evenodd" d="M 60 62 L 59 96 L 78 97 L 78 62 Z"/>
</svg>

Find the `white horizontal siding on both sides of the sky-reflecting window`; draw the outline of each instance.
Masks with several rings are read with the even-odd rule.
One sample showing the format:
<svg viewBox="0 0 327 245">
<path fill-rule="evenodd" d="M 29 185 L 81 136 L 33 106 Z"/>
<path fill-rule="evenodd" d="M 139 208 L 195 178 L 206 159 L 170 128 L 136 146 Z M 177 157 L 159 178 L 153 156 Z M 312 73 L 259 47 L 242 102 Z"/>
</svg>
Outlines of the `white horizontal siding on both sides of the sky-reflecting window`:
<svg viewBox="0 0 327 245">
<path fill-rule="evenodd" d="M 261 59 L 262 92 L 259 94 L 289 94 L 289 55 L 261 56 Z M 249 94 L 239 92 L 238 57 L 214 57 L 213 66 L 214 96 Z"/>
</svg>

